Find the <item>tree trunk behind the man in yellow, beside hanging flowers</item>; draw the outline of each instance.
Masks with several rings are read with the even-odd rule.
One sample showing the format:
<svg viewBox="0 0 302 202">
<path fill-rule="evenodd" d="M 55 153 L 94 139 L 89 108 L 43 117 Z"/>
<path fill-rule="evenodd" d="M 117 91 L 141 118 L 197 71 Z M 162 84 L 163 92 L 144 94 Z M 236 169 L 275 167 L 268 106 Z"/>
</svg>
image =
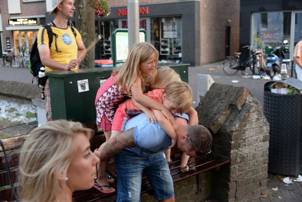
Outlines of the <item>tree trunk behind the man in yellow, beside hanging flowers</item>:
<svg viewBox="0 0 302 202">
<path fill-rule="evenodd" d="M 85 47 L 94 41 L 95 33 L 95 0 L 76 0 L 76 28 L 82 35 Z M 80 69 L 94 68 L 95 47 L 92 47 L 79 64 Z"/>
</svg>

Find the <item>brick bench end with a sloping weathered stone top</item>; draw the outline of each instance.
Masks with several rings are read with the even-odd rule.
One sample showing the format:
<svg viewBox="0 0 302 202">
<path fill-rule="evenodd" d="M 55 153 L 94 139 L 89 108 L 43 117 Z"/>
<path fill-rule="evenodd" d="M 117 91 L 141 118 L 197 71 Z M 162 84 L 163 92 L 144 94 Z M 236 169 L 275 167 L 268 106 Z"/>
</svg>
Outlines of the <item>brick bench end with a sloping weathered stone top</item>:
<svg viewBox="0 0 302 202">
<path fill-rule="evenodd" d="M 245 87 L 214 83 L 195 108 L 213 135 L 213 155 L 230 159 L 215 175 L 221 201 L 257 197 L 266 189 L 269 124 Z"/>
</svg>

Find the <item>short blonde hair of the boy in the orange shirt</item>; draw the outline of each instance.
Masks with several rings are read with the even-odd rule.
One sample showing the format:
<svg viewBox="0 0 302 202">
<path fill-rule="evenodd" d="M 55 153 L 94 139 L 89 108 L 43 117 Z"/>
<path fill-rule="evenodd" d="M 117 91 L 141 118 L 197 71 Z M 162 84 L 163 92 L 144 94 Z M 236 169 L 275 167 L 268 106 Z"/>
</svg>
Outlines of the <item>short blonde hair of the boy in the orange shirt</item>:
<svg viewBox="0 0 302 202">
<path fill-rule="evenodd" d="M 166 99 L 175 103 L 178 113 L 185 113 L 193 104 L 193 91 L 189 84 L 184 81 L 173 81 L 166 88 L 164 93 Z"/>
</svg>

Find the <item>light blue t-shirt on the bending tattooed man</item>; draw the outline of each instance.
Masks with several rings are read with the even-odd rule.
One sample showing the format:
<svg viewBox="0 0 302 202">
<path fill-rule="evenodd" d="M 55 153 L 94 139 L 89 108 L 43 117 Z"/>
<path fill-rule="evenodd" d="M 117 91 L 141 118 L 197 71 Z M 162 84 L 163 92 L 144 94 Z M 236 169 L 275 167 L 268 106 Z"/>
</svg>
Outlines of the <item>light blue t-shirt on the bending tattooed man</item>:
<svg viewBox="0 0 302 202">
<path fill-rule="evenodd" d="M 188 120 L 188 114 L 174 114 Z M 140 157 L 147 157 L 160 151 L 165 151 L 172 144 L 171 137 L 165 133 L 160 124 L 149 123 L 145 113 L 139 114 L 125 124 L 125 131 L 134 129 L 134 141 L 137 147 L 127 148 L 134 151 Z"/>
</svg>

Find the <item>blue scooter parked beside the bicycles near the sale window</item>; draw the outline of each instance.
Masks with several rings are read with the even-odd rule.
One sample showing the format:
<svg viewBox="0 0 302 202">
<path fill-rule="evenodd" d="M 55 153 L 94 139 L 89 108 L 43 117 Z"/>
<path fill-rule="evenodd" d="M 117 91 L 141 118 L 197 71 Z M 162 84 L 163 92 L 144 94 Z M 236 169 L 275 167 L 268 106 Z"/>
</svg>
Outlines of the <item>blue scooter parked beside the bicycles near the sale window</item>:
<svg viewBox="0 0 302 202">
<path fill-rule="evenodd" d="M 283 45 L 287 43 L 288 40 L 283 41 Z M 276 46 L 275 48 L 272 48 L 271 46 L 267 47 L 267 49 L 271 49 L 271 52 L 266 58 L 266 74 L 271 78 L 280 73 L 281 64 L 283 63 L 284 59 L 284 53 L 281 51 L 282 48 L 284 48 L 284 46 Z"/>
</svg>

